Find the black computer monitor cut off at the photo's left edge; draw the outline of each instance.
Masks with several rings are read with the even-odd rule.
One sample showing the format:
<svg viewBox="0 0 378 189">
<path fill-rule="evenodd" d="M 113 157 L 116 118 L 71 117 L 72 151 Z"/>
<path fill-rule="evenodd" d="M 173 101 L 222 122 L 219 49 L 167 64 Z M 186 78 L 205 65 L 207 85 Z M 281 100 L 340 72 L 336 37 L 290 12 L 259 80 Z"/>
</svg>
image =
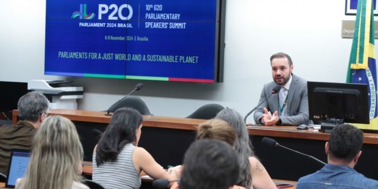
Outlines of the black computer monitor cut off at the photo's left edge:
<svg viewBox="0 0 378 189">
<path fill-rule="evenodd" d="M 21 96 L 28 92 L 28 83 L 0 81 L 0 111 L 17 109 Z"/>
</svg>

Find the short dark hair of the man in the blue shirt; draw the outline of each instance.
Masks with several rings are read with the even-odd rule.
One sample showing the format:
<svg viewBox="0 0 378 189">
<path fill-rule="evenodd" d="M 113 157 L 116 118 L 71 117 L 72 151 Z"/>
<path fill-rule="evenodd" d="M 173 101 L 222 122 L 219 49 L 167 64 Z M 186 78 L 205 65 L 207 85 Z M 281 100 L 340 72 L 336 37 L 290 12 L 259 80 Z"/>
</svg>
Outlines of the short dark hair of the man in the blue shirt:
<svg viewBox="0 0 378 189">
<path fill-rule="evenodd" d="M 335 127 L 330 136 L 329 155 L 330 158 L 349 163 L 361 150 L 363 142 L 362 131 L 351 124 L 340 124 Z"/>
</svg>

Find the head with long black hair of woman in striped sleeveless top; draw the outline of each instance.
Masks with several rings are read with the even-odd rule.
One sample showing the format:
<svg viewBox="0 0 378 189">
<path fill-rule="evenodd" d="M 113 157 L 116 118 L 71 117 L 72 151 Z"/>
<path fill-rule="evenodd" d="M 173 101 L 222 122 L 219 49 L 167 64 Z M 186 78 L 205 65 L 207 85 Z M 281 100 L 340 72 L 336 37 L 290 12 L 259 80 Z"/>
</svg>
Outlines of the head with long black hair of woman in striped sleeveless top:
<svg viewBox="0 0 378 189">
<path fill-rule="evenodd" d="M 102 134 L 96 148 L 97 166 L 104 161 L 115 161 L 123 146 L 129 143 L 138 145 L 141 136 L 143 116 L 132 107 L 117 109 Z"/>
</svg>

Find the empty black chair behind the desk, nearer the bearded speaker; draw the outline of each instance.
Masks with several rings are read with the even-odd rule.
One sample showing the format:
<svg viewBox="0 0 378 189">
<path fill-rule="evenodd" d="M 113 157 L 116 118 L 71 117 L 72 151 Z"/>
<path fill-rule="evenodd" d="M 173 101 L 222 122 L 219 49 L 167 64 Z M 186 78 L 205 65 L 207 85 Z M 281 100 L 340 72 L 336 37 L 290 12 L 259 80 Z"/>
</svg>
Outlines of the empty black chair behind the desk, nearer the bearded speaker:
<svg viewBox="0 0 378 189">
<path fill-rule="evenodd" d="M 206 104 L 198 108 L 186 118 L 211 119 L 214 118 L 217 113 L 223 109 L 224 107 L 219 104 Z"/>
</svg>

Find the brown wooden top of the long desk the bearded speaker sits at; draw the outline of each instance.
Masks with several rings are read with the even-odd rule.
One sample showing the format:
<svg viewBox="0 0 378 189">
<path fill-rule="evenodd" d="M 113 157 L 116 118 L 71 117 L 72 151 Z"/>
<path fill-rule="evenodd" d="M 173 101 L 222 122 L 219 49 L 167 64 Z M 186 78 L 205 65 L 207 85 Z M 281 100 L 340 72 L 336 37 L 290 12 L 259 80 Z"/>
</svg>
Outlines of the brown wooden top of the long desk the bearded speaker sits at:
<svg viewBox="0 0 378 189">
<path fill-rule="evenodd" d="M 105 115 L 104 112 L 85 111 L 85 110 L 69 110 L 69 109 L 52 109 L 49 110 L 50 115 L 61 115 L 72 121 L 84 121 L 93 123 L 108 124 L 111 116 Z M 18 118 L 18 110 L 13 110 L 13 124 L 16 124 Z M 164 116 L 144 116 L 143 126 L 166 129 L 179 129 L 196 131 L 197 126 L 204 122 L 204 119 L 191 119 L 179 117 Z M 314 130 L 296 130 L 294 126 L 248 126 L 249 135 L 285 137 L 296 139 L 311 139 L 328 141 L 330 134 L 314 132 Z M 378 134 L 364 133 L 364 144 L 378 145 Z"/>
</svg>

